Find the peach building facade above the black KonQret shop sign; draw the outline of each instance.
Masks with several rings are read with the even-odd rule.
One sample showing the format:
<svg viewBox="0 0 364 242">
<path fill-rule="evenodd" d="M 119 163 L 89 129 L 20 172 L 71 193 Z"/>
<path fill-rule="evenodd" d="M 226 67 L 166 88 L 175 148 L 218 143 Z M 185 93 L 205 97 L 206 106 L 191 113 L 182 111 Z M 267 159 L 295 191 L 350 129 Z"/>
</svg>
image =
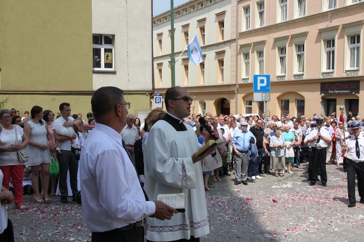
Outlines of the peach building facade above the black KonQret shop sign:
<svg viewBox="0 0 364 242">
<path fill-rule="evenodd" d="M 339 115 L 340 106 L 360 113 L 363 1 L 241 0 L 238 9 L 242 112 L 263 111 L 251 100 L 253 75 L 265 74 L 271 80 L 268 115 Z"/>
</svg>

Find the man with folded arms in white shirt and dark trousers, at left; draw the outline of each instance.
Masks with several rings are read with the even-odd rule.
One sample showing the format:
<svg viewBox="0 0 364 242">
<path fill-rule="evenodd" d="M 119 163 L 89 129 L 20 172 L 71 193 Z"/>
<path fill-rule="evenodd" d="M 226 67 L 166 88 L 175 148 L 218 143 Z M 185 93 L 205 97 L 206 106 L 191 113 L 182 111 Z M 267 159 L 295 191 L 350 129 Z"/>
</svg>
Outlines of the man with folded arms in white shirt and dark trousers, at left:
<svg viewBox="0 0 364 242">
<path fill-rule="evenodd" d="M 61 117 L 53 122 L 53 127 L 60 126 L 57 123 L 66 127 L 73 126 L 74 119 L 70 117 L 71 106 L 68 103 L 62 103 L 59 106 Z M 59 161 L 59 191 L 61 193 L 61 202 L 68 203 L 68 189 L 67 189 L 67 171 L 69 170 L 69 184 L 72 189 L 72 199 L 75 201 L 75 195 L 78 192 L 77 189 L 77 172 L 78 172 L 78 161 L 75 159 L 73 152 L 71 151 L 71 139 L 76 139 L 76 134 L 72 137 L 61 136 L 54 130 L 54 138 L 61 144 L 61 154 L 57 155 Z"/>
</svg>

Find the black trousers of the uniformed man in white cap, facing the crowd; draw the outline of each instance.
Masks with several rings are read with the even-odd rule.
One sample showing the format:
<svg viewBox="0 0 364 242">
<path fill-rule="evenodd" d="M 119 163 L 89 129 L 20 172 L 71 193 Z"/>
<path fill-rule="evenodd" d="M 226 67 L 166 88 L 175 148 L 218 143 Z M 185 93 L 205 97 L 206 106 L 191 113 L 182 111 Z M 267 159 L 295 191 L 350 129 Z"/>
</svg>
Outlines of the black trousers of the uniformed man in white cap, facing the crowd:
<svg viewBox="0 0 364 242">
<path fill-rule="evenodd" d="M 311 159 L 310 164 L 311 169 L 309 173 L 309 179 L 311 183 L 316 183 L 318 180 L 318 172 L 320 171 L 321 184 L 327 183 L 327 174 L 326 174 L 326 148 L 316 149 L 312 147 L 311 149 Z"/>
</svg>

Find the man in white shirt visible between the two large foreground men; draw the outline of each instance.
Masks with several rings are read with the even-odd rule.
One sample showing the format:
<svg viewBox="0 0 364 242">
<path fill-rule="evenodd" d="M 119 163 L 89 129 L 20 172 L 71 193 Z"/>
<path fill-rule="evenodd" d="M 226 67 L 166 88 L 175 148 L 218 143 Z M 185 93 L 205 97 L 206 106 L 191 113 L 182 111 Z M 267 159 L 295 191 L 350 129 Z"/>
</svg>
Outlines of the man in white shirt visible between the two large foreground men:
<svg viewBox="0 0 364 242">
<path fill-rule="evenodd" d="M 128 147 L 128 151 L 132 156 L 132 164 L 135 166 L 135 158 L 134 158 L 134 143 L 139 137 L 138 128 L 134 125 L 135 117 L 131 113 L 126 116 L 126 125 L 121 131 L 121 136 L 123 136 L 123 140 Z"/>
</svg>

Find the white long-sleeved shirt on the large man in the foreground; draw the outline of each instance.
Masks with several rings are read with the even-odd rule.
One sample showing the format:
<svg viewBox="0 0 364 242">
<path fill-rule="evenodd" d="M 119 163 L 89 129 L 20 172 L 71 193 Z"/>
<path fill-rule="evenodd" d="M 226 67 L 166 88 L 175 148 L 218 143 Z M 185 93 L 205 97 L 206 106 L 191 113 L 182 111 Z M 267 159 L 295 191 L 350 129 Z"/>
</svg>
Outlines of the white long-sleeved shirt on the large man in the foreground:
<svg viewBox="0 0 364 242">
<path fill-rule="evenodd" d="M 82 208 L 92 232 L 127 226 L 155 212 L 146 201 L 136 171 L 114 129 L 96 123 L 80 159 Z"/>
</svg>

